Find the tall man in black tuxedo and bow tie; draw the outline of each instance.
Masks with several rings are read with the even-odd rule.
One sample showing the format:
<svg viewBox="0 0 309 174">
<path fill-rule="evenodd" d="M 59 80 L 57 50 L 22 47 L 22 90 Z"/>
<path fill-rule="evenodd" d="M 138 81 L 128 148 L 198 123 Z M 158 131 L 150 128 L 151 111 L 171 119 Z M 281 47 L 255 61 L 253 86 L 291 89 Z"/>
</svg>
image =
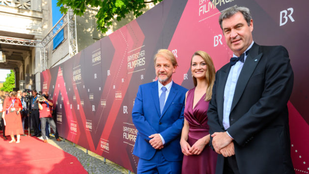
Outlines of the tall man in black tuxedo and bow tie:
<svg viewBox="0 0 309 174">
<path fill-rule="evenodd" d="M 216 174 L 295 174 L 290 156 L 287 102 L 293 71 L 282 46 L 253 42 L 246 7 L 219 17 L 230 62 L 216 73 L 208 109 Z"/>
</svg>

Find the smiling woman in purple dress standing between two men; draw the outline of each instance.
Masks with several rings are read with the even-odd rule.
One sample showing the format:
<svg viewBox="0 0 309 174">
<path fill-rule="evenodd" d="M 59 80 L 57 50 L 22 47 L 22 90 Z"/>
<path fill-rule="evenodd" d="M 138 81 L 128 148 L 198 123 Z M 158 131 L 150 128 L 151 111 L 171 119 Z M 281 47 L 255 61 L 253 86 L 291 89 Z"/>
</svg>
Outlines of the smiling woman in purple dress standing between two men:
<svg viewBox="0 0 309 174">
<path fill-rule="evenodd" d="M 180 145 L 184 154 L 183 174 L 215 174 L 217 153 L 208 145 L 208 104 L 212 95 L 216 70 L 211 57 L 197 51 L 191 59 L 191 72 L 195 87 L 186 93 Z"/>
</svg>

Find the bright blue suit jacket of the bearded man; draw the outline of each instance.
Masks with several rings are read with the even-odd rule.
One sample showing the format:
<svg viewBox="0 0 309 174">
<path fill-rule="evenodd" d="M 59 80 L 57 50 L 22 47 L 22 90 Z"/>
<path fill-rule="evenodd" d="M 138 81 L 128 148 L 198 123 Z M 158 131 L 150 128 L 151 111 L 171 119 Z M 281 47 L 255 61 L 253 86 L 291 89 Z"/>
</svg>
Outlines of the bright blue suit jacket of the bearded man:
<svg viewBox="0 0 309 174">
<path fill-rule="evenodd" d="M 139 131 L 134 145 L 134 155 L 150 160 L 156 149 L 149 144 L 148 136 L 159 133 L 165 140 L 162 149 L 165 159 L 182 160 L 179 142 L 187 90 L 173 82 L 161 116 L 158 81 L 140 85 L 132 110 L 133 123 Z"/>
</svg>

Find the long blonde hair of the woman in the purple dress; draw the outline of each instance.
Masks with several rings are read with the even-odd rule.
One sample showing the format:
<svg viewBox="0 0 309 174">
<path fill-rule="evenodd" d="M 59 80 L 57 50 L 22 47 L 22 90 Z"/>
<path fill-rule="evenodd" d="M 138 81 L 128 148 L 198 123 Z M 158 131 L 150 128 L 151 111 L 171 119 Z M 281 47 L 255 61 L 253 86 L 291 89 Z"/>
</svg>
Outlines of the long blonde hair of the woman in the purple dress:
<svg viewBox="0 0 309 174">
<path fill-rule="evenodd" d="M 194 56 L 200 56 L 201 58 L 203 58 L 203 60 L 206 63 L 207 66 L 207 70 L 206 70 L 206 82 L 208 84 L 208 87 L 206 89 L 206 95 L 204 100 L 205 101 L 209 101 L 211 99 L 212 96 L 212 87 L 214 86 L 214 82 L 215 82 L 215 75 L 216 75 L 216 69 L 214 66 L 214 63 L 211 59 L 211 57 L 204 51 L 197 51 L 193 54 L 192 58 L 191 58 L 191 66 L 192 66 L 192 59 Z M 197 78 L 195 78 L 194 76 L 192 76 L 193 78 L 193 83 L 194 86 L 197 86 Z"/>
</svg>

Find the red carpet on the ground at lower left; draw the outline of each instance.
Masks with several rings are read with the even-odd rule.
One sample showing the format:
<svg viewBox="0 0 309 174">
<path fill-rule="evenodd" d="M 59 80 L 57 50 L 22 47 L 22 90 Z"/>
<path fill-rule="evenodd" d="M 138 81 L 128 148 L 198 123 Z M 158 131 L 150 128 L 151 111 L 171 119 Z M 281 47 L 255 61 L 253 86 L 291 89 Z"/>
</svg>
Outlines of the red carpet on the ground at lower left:
<svg viewBox="0 0 309 174">
<path fill-rule="evenodd" d="M 87 174 L 75 156 L 53 145 L 28 136 L 19 144 L 8 139 L 0 136 L 0 174 Z"/>
</svg>

